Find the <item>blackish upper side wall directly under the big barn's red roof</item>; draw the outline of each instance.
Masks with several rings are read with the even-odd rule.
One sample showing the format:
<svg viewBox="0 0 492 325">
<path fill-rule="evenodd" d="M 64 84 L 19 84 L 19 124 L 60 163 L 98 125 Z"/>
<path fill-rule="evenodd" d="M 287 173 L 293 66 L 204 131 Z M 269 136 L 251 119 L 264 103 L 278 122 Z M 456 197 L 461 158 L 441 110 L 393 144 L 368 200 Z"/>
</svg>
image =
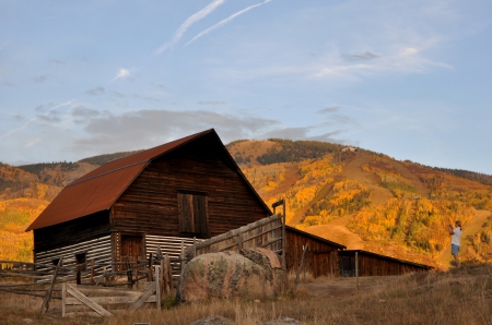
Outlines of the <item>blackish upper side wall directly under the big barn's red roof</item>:
<svg viewBox="0 0 492 325">
<path fill-rule="evenodd" d="M 35 253 L 70 246 L 109 234 L 109 213 L 105 210 L 33 231 Z"/>
</svg>

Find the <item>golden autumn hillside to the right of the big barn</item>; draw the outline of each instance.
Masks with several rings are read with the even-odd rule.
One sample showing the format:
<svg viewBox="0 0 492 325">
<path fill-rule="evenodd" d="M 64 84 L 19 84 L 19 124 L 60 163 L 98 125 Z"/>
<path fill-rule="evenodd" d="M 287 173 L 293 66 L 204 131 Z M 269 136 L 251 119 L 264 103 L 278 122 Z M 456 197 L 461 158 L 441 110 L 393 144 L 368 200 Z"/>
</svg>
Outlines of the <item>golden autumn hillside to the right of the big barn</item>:
<svg viewBox="0 0 492 325">
<path fill-rule="evenodd" d="M 309 152 L 313 158 L 282 155 L 281 142 L 268 143 L 274 149 L 267 155 L 274 151 L 283 160 L 260 164 L 266 154 L 254 155 L 253 146 L 261 146 L 258 141 L 233 143 L 230 151 L 239 156 L 238 161 L 244 161 L 244 154 L 256 161 L 239 166 L 269 205 L 286 198 L 290 225 L 349 249 L 447 268 L 452 258 L 446 253 L 446 225 L 461 219 L 462 258 L 492 262 L 490 176 L 397 161 L 383 154 L 343 147 L 338 152 L 317 147 Z"/>
</svg>

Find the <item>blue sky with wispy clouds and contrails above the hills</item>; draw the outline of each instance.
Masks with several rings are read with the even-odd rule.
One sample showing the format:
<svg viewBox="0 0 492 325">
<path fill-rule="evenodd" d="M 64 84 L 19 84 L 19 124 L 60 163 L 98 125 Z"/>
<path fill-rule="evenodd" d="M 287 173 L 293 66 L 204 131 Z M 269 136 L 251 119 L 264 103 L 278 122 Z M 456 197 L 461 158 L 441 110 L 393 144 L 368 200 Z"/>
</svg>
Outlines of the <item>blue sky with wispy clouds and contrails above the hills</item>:
<svg viewBox="0 0 492 325">
<path fill-rule="evenodd" d="M 492 1 L 0 0 L 0 161 L 214 128 L 492 174 Z"/>
</svg>

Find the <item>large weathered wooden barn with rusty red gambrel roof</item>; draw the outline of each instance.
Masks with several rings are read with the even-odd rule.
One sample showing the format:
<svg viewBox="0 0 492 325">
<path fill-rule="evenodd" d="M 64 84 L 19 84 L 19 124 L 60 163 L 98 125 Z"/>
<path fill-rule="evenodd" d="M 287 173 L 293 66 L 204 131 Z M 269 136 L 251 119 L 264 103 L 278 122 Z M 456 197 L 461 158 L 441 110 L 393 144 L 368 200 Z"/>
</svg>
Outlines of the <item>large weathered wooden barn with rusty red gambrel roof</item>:
<svg viewBox="0 0 492 325">
<path fill-rule="evenodd" d="M 26 229 L 34 260 L 117 265 L 157 246 L 177 256 L 272 215 L 213 129 L 116 159 L 67 185 Z M 96 269 L 96 272 L 99 272 Z"/>
</svg>

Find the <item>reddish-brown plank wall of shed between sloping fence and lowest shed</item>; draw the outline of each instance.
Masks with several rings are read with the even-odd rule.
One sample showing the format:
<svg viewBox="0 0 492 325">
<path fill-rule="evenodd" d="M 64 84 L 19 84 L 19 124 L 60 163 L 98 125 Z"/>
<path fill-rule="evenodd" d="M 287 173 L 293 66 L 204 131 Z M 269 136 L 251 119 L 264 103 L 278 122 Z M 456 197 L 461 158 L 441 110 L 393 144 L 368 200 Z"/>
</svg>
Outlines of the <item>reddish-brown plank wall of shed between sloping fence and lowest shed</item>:
<svg viewBox="0 0 492 325">
<path fill-rule="evenodd" d="M 297 272 L 303 255 L 303 245 L 307 243 L 304 257 L 306 272 L 314 277 L 339 276 L 338 248 L 315 238 L 285 229 L 285 262 L 288 270 Z M 303 267 L 303 270 L 304 270 Z"/>
</svg>

